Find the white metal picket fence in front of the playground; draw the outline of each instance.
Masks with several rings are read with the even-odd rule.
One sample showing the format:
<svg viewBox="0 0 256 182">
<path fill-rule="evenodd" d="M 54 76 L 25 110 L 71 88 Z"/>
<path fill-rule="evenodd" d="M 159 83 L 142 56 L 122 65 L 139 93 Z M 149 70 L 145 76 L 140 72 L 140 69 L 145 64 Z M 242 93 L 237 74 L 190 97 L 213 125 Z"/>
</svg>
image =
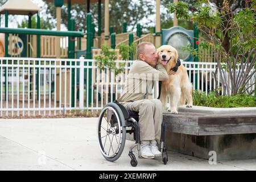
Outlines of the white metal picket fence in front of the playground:
<svg viewBox="0 0 256 182">
<path fill-rule="evenodd" d="M 0 117 L 59 115 L 73 110 L 100 111 L 105 104 L 121 96 L 132 61 L 115 63 L 117 66 L 126 63 L 125 71 L 117 76 L 108 68 L 98 68 L 95 60 L 2 57 Z M 194 89 L 221 88 L 219 75 L 217 84 L 213 77 L 217 63 L 183 62 L 183 65 L 187 67 Z M 253 83 L 255 77 L 248 84 Z M 158 97 L 158 84 L 155 85 L 154 98 Z M 255 85 L 251 86 L 250 90 L 254 89 Z"/>
</svg>

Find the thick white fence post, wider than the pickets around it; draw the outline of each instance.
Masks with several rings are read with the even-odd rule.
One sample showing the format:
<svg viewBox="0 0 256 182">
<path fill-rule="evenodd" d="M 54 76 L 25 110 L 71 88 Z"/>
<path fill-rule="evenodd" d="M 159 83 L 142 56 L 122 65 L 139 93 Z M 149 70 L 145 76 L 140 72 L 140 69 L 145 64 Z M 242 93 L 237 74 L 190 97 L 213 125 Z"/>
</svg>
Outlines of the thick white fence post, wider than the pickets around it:
<svg viewBox="0 0 256 182">
<path fill-rule="evenodd" d="M 80 57 L 79 107 L 84 108 L 84 57 Z"/>
</svg>

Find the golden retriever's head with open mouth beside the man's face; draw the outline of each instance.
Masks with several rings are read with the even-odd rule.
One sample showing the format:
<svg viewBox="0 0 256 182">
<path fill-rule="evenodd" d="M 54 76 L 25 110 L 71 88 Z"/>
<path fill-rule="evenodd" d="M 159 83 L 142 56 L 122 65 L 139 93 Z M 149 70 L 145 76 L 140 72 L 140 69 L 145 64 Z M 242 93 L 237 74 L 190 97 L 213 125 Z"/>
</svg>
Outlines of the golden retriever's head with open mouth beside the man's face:
<svg viewBox="0 0 256 182">
<path fill-rule="evenodd" d="M 177 63 L 178 53 L 177 50 L 169 45 L 164 45 L 159 47 L 156 52 L 158 53 L 158 62 L 165 65 L 173 65 L 175 67 L 175 64 Z"/>
</svg>

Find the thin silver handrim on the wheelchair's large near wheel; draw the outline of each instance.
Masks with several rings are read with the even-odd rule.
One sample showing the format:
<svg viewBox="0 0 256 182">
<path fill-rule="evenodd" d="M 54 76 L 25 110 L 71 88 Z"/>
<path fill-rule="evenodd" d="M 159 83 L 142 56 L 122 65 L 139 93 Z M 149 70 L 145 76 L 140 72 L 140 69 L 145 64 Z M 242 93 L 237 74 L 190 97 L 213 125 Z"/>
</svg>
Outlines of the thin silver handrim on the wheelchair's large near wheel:
<svg viewBox="0 0 256 182">
<path fill-rule="evenodd" d="M 117 148 L 115 151 L 113 151 L 113 154 L 112 155 L 108 155 L 106 154 L 107 152 L 103 150 L 104 146 L 102 145 L 102 141 L 100 138 L 103 138 L 101 136 L 101 132 L 100 132 L 100 127 L 101 127 L 101 123 L 102 123 L 102 118 L 104 117 L 103 113 L 104 111 L 106 111 L 107 109 L 111 109 L 114 114 L 117 116 L 117 122 L 118 122 L 118 131 L 119 131 L 119 135 L 118 135 L 118 144 L 117 144 Z M 108 123 L 108 121 L 106 121 Z M 102 127 L 103 128 L 103 127 Z M 122 135 L 123 133 L 121 132 L 121 122 L 119 120 L 119 117 L 118 117 L 118 114 L 117 114 L 117 111 L 115 111 L 115 109 L 113 107 L 110 107 L 110 106 L 106 106 L 104 109 L 102 109 L 101 111 L 101 114 L 100 114 L 100 118 L 98 119 L 98 127 L 97 127 L 97 132 L 98 132 L 98 144 L 100 145 L 100 150 L 101 150 L 101 154 L 104 155 L 106 158 L 114 158 L 114 156 L 116 156 L 118 154 L 118 151 L 119 149 L 121 148 L 121 143 L 122 143 Z M 114 135 L 113 135 L 114 137 Z M 110 138 L 109 138 L 110 139 Z M 116 138 L 115 138 L 116 139 Z M 112 138 L 113 140 L 113 138 Z M 112 144 L 110 144 L 110 147 L 112 146 Z M 112 147 L 112 150 L 113 150 L 113 147 Z"/>
</svg>

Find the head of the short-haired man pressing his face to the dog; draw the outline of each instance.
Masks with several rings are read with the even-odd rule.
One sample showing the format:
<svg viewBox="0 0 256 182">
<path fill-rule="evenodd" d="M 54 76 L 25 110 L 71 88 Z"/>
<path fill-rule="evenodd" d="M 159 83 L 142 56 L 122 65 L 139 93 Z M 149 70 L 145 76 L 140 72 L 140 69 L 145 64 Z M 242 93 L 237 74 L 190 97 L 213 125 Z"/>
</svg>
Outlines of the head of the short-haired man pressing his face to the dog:
<svg viewBox="0 0 256 182">
<path fill-rule="evenodd" d="M 140 54 L 139 58 L 152 67 L 155 67 L 158 63 L 158 55 L 156 54 L 155 46 L 145 45 L 144 53 Z"/>
</svg>

